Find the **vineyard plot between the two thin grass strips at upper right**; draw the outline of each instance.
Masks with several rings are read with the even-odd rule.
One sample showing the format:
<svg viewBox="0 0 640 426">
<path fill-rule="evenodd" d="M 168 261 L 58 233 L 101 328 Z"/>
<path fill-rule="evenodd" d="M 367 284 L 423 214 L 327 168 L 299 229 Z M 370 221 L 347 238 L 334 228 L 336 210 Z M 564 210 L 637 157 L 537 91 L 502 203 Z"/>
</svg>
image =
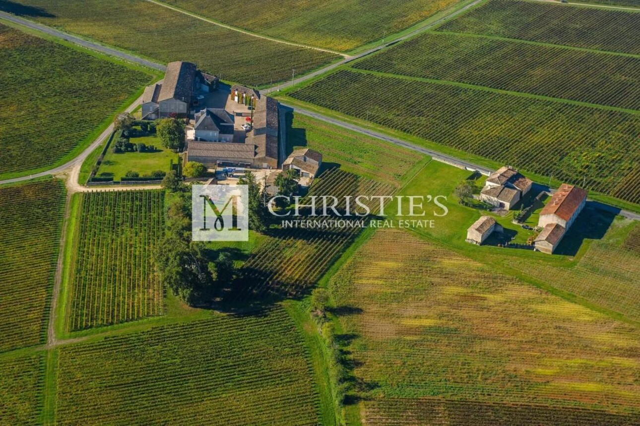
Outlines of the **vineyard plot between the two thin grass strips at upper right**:
<svg viewBox="0 0 640 426">
<path fill-rule="evenodd" d="M 427 33 L 355 67 L 640 109 L 640 58 L 627 56 Z"/>
</svg>

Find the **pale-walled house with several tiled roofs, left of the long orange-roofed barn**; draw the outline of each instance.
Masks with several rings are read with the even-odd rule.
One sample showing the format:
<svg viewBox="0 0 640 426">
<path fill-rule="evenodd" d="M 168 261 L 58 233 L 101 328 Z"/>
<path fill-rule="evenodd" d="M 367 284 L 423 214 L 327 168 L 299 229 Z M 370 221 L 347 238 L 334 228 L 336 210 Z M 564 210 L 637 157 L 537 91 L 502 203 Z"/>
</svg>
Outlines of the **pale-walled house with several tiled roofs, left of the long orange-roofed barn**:
<svg viewBox="0 0 640 426">
<path fill-rule="evenodd" d="M 480 193 L 480 201 L 500 209 L 511 210 L 531 190 L 533 181 L 517 170 L 504 166 L 487 178 Z"/>
</svg>

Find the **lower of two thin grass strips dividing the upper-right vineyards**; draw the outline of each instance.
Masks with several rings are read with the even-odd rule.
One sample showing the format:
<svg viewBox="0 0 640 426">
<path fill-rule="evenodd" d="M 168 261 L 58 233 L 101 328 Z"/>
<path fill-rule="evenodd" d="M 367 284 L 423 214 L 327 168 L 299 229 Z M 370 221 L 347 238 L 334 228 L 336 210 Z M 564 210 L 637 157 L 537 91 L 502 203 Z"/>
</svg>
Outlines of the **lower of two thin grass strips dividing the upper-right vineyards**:
<svg viewBox="0 0 640 426">
<path fill-rule="evenodd" d="M 501 95 L 511 95 L 511 96 L 519 96 L 519 97 L 537 99 L 537 100 L 547 100 L 550 102 L 558 102 L 561 104 L 572 104 L 575 106 L 604 109 L 606 111 L 617 111 L 619 113 L 627 113 L 627 114 L 635 114 L 635 115 L 640 114 L 640 110 L 636 110 L 636 109 L 613 107 L 613 106 L 607 106 L 607 105 L 601 105 L 601 104 L 591 104 L 589 102 L 582 102 L 580 100 L 555 98 L 555 97 L 545 96 L 545 95 L 535 95 L 534 93 L 527 93 L 525 91 L 495 89 L 488 86 L 479 86 L 477 84 L 461 83 L 460 81 L 425 79 L 422 77 L 412 77 L 410 75 L 389 74 L 387 72 L 362 70 L 360 68 L 349 68 L 349 71 L 359 72 L 360 74 L 379 75 L 380 77 L 395 78 L 395 79 L 401 79 L 401 80 L 407 80 L 407 81 L 420 81 L 422 83 L 441 84 L 442 86 L 458 86 L 464 89 L 490 91 L 493 93 L 500 93 Z"/>
</svg>

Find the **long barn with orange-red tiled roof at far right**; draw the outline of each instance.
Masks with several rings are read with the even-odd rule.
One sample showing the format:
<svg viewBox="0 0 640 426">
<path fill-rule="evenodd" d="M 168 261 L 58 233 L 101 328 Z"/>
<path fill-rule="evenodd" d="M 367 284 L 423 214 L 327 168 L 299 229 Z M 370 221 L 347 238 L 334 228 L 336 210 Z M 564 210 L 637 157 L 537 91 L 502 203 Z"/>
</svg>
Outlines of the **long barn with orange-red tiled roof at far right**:
<svg viewBox="0 0 640 426">
<path fill-rule="evenodd" d="M 534 240 L 536 250 L 552 254 L 578 217 L 587 200 L 587 191 L 562 184 L 543 207 L 538 219 L 542 231 Z"/>
</svg>

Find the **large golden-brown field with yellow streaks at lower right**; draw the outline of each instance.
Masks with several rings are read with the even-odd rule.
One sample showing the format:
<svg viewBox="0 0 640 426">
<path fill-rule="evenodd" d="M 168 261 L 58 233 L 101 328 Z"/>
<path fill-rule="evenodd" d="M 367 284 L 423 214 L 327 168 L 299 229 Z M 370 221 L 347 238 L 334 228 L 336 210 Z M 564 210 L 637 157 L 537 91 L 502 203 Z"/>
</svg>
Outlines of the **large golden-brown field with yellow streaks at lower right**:
<svg viewBox="0 0 640 426">
<path fill-rule="evenodd" d="M 490 264 L 378 230 L 330 290 L 349 307 L 339 320 L 353 336 L 356 377 L 371 389 L 367 424 L 450 424 L 451 409 L 467 413 L 455 425 L 640 420 L 637 329 Z"/>
</svg>

